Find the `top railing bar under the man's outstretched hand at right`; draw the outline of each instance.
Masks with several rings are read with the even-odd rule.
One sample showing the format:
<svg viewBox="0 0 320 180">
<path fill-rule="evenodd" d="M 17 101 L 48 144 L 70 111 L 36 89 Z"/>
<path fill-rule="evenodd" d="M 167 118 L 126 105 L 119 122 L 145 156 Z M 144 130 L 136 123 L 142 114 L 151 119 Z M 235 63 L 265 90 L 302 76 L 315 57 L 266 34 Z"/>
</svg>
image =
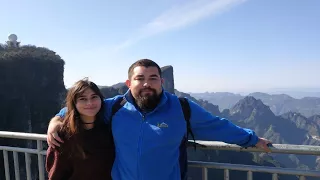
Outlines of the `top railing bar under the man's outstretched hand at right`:
<svg viewBox="0 0 320 180">
<path fill-rule="evenodd" d="M 189 141 L 192 146 L 193 141 Z M 217 141 L 196 141 L 197 148 L 208 150 L 229 150 L 229 151 L 244 151 L 244 152 L 264 152 L 256 147 L 243 148 L 235 144 L 227 144 Z M 310 145 L 294 145 L 294 144 L 272 144 L 270 146 L 271 153 L 282 154 L 300 154 L 300 155 L 317 155 L 320 156 L 320 146 Z"/>
</svg>

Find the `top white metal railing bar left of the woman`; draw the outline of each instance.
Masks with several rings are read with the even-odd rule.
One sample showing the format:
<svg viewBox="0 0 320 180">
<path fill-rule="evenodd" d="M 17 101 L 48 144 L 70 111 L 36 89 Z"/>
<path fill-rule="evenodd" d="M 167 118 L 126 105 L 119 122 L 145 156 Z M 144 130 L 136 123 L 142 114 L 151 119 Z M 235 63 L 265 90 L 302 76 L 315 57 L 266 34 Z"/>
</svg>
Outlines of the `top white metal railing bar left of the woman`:
<svg viewBox="0 0 320 180">
<path fill-rule="evenodd" d="M 12 139 L 47 140 L 46 134 L 0 131 L 0 137 Z"/>
</svg>

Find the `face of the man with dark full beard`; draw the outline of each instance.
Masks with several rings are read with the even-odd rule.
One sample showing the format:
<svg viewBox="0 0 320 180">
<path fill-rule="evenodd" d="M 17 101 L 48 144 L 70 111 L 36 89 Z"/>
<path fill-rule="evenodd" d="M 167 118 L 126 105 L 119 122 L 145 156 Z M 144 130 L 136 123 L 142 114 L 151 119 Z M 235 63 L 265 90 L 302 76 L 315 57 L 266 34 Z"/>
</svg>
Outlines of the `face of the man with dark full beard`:
<svg viewBox="0 0 320 180">
<path fill-rule="evenodd" d="M 163 79 L 156 67 L 137 66 L 132 76 L 126 81 L 132 96 L 140 108 L 154 108 L 162 92 Z"/>
</svg>

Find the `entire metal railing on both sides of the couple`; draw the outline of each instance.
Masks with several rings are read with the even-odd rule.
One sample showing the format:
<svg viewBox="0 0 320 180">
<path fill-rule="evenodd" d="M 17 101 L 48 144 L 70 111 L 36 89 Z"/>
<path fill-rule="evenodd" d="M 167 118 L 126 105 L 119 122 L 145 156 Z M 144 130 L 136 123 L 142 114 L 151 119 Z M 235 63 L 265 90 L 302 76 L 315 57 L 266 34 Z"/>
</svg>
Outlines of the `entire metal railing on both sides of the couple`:
<svg viewBox="0 0 320 180">
<path fill-rule="evenodd" d="M 30 170 L 30 155 L 36 154 L 38 159 L 38 173 L 39 180 L 45 179 L 44 170 L 44 156 L 46 155 L 46 150 L 43 149 L 42 142 L 46 141 L 45 134 L 34 134 L 34 133 L 19 133 L 19 132 L 7 132 L 0 131 L 0 138 L 13 138 L 13 139 L 23 139 L 23 140 L 35 140 L 37 142 L 37 148 L 21 148 L 21 147 L 9 147 L 0 146 L 0 150 L 3 151 L 3 161 L 4 161 L 4 173 L 6 180 L 10 180 L 9 171 L 9 158 L 8 152 L 13 153 L 13 164 L 14 164 L 14 174 L 15 179 L 20 180 L 19 171 L 19 159 L 18 153 L 24 153 L 25 156 L 25 167 L 27 180 L 31 180 L 31 170 Z M 229 150 L 238 152 L 263 152 L 257 148 L 242 148 L 237 145 L 226 144 L 222 142 L 213 141 L 196 141 L 199 149 L 207 150 Z M 319 146 L 306 146 L 306 145 L 290 145 L 290 144 L 273 144 L 271 147 L 272 153 L 283 153 L 283 154 L 300 154 L 300 155 L 315 155 L 320 156 Z M 292 168 L 278 168 L 278 167 L 267 167 L 267 166 L 253 166 L 244 164 L 229 164 L 229 163 L 216 163 L 216 162 L 202 162 L 202 161 L 189 161 L 190 167 L 202 168 L 202 179 L 208 179 L 208 169 L 223 169 L 224 170 L 224 180 L 230 179 L 230 170 L 236 171 L 246 171 L 247 179 L 253 179 L 254 172 L 265 172 L 272 174 L 272 180 L 277 180 L 279 174 L 284 175 L 295 175 L 299 176 L 300 180 L 304 180 L 307 176 L 309 177 L 319 177 L 320 172 L 315 170 L 300 170 Z M 3 172 L 0 172 L 3 173 Z"/>
</svg>

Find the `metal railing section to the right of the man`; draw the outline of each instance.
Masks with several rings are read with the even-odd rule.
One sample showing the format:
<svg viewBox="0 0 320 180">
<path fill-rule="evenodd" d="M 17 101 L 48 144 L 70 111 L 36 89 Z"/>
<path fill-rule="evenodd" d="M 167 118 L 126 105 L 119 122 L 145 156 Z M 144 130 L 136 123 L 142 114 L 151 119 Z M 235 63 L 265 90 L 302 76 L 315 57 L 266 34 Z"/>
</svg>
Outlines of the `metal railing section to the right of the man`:
<svg viewBox="0 0 320 180">
<path fill-rule="evenodd" d="M 198 147 L 207 150 L 228 150 L 238 152 L 264 152 L 258 148 L 243 148 L 238 145 L 226 144 L 223 142 L 213 141 L 196 141 Z M 272 153 L 281 154 L 299 154 L 299 155 L 315 155 L 320 156 L 319 146 L 309 145 L 292 145 L 292 144 L 273 144 L 271 147 Z M 272 180 L 278 180 L 278 175 L 295 175 L 299 177 L 299 180 L 305 180 L 306 177 L 319 177 L 320 171 L 316 170 L 301 170 L 293 168 L 279 168 L 279 167 L 267 167 L 267 166 L 253 166 L 244 164 L 229 164 L 229 163 L 216 163 L 216 162 L 201 162 L 201 161 L 189 161 L 190 167 L 202 168 L 202 179 L 208 179 L 208 168 L 223 169 L 224 180 L 230 179 L 230 170 L 235 171 L 247 171 L 247 180 L 252 180 L 253 172 L 271 173 Z"/>
</svg>

